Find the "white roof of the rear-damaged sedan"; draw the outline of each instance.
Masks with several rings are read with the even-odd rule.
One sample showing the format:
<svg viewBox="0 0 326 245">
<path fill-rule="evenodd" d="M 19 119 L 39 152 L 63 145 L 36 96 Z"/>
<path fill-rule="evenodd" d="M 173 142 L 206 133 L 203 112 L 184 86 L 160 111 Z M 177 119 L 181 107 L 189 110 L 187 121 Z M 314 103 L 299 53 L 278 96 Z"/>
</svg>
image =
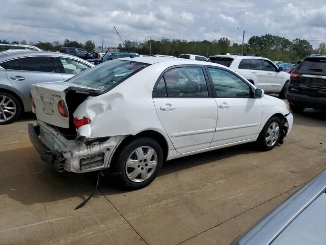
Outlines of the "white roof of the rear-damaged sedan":
<svg viewBox="0 0 326 245">
<path fill-rule="evenodd" d="M 128 61 L 135 61 L 135 62 L 142 62 L 146 64 L 156 64 L 160 62 L 171 62 L 173 65 L 209 65 L 209 66 L 219 66 L 225 68 L 224 65 L 215 64 L 212 62 L 207 61 L 199 61 L 199 60 L 189 60 L 189 59 L 182 59 L 182 58 L 174 58 L 174 57 L 153 57 L 153 56 L 146 56 L 146 57 L 134 57 L 134 58 L 119 58 L 116 60 L 128 60 Z"/>
</svg>

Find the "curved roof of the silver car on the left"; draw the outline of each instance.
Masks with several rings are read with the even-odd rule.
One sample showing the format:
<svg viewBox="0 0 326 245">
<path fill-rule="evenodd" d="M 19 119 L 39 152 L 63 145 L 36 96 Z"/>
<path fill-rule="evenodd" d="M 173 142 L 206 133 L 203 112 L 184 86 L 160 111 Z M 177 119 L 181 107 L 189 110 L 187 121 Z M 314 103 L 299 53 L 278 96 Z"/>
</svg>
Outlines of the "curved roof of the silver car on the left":
<svg viewBox="0 0 326 245">
<path fill-rule="evenodd" d="M 83 59 L 78 58 L 77 56 L 73 55 L 67 55 L 59 52 L 46 52 L 46 51 L 26 51 L 26 50 L 17 50 L 17 51 L 3 51 L 0 52 L 0 62 L 11 60 L 11 59 L 17 59 L 17 58 L 23 58 L 23 57 L 35 57 L 35 56 L 59 56 L 59 57 L 66 57 L 71 58 L 79 61 L 83 61 L 86 63 L 89 63 L 88 61 L 85 61 Z M 89 63 L 91 66 L 94 66 L 93 64 Z"/>
</svg>

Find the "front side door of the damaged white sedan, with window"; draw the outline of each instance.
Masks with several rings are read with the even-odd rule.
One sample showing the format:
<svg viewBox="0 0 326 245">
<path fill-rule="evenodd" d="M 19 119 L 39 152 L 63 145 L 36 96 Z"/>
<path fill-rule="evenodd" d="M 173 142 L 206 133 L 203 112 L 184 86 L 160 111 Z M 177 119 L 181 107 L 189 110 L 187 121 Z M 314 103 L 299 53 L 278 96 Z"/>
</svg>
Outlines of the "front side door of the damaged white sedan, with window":
<svg viewBox="0 0 326 245">
<path fill-rule="evenodd" d="M 218 105 L 218 121 L 210 146 L 252 141 L 261 124 L 261 100 L 255 99 L 250 85 L 233 72 L 216 67 L 207 67 L 207 71 Z"/>
</svg>

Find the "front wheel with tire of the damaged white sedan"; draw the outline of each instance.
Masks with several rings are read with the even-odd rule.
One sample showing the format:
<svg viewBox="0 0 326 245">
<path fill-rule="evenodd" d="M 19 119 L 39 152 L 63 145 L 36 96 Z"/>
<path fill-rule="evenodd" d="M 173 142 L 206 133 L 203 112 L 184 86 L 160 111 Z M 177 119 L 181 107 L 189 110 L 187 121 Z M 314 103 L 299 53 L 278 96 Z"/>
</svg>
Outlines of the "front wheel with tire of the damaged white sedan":
<svg viewBox="0 0 326 245">
<path fill-rule="evenodd" d="M 281 137 L 281 120 L 273 116 L 265 124 L 263 130 L 260 132 L 257 144 L 261 151 L 270 151 L 280 141 Z"/>
</svg>

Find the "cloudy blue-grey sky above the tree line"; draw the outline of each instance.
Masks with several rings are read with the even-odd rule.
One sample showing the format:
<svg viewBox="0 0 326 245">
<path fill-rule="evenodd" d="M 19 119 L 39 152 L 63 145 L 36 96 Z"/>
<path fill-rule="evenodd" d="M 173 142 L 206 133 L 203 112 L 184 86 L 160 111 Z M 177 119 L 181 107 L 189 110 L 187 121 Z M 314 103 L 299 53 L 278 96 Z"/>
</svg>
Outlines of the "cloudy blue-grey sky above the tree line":
<svg viewBox="0 0 326 245">
<path fill-rule="evenodd" d="M 120 39 L 188 41 L 228 37 L 244 42 L 266 33 L 290 40 L 326 40 L 325 0 L 1 0 L 0 39 L 85 42 Z"/>
</svg>

